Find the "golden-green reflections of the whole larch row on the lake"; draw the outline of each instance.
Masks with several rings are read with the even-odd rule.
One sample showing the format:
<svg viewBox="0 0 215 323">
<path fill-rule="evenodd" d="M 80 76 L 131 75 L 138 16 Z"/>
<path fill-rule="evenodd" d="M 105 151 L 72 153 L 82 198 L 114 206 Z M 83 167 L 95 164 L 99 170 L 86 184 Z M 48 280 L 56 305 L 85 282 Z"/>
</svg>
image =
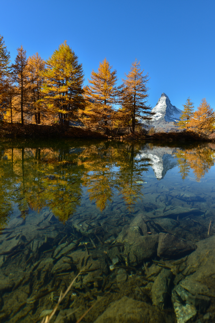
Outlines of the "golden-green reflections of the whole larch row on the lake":
<svg viewBox="0 0 215 323">
<path fill-rule="evenodd" d="M 84 187 L 89 200 L 101 211 L 116 194 L 128 211 L 143 198 L 150 159 L 140 158 L 139 152 L 152 151 L 153 143 L 77 141 L 71 147 L 71 141 L 59 141 L 50 146 L 40 143 L 40 148 L 35 145 L 27 148 L 32 144 L 21 142 L 1 148 L 0 230 L 7 225 L 15 204 L 23 219 L 29 209 L 39 212 L 48 207 L 65 222 L 81 205 Z M 157 144 L 155 147 L 159 148 Z M 214 165 L 214 148 L 211 143 L 174 148 L 182 179 L 192 169 L 200 181 Z"/>
</svg>

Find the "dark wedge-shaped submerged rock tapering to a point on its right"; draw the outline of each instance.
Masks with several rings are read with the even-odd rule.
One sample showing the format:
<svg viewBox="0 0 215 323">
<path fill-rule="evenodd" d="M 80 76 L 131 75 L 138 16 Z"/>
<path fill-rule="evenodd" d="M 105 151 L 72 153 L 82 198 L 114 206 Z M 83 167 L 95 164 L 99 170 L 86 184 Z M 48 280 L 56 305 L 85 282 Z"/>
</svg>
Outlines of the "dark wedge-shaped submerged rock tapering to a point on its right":
<svg viewBox="0 0 215 323">
<path fill-rule="evenodd" d="M 170 233 L 159 234 L 157 255 L 164 258 L 183 256 L 196 249 L 194 244 L 188 244 Z"/>
</svg>

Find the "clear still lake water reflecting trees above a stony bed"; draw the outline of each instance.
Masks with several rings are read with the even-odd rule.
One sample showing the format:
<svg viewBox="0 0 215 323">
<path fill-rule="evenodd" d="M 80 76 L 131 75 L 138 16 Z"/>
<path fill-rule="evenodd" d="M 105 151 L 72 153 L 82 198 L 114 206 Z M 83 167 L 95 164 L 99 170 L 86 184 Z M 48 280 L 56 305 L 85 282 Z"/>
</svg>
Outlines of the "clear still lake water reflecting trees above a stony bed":
<svg viewBox="0 0 215 323">
<path fill-rule="evenodd" d="M 68 321 L 97 301 L 84 318 L 93 322 L 124 296 L 176 321 L 173 290 L 193 272 L 185 273 L 186 252 L 158 256 L 158 237 L 194 244 L 213 238 L 214 144 L 2 141 L 0 150 L 2 322 L 40 322 L 80 270 L 56 312 L 75 311 Z M 173 276 L 162 307 L 153 286 L 164 269 Z M 187 300 L 194 321 L 214 317 L 210 298 L 204 308 Z"/>
</svg>

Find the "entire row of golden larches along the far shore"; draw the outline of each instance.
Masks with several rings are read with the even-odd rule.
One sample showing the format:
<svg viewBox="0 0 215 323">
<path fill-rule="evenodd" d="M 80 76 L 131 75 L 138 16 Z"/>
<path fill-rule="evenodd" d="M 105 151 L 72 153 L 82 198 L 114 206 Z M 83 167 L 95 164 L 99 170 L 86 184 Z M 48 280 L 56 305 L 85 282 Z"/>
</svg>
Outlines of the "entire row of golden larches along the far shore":
<svg viewBox="0 0 215 323">
<path fill-rule="evenodd" d="M 148 81 L 135 59 L 119 84 L 116 69 L 104 58 L 83 86 L 82 64 L 66 41 L 46 61 L 38 53 L 27 58 L 21 46 L 11 63 L 0 35 L 1 137 L 213 139 L 215 113 L 205 98 L 196 111 L 187 99 L 178 133 L 156 133 Z"/>
</svg>

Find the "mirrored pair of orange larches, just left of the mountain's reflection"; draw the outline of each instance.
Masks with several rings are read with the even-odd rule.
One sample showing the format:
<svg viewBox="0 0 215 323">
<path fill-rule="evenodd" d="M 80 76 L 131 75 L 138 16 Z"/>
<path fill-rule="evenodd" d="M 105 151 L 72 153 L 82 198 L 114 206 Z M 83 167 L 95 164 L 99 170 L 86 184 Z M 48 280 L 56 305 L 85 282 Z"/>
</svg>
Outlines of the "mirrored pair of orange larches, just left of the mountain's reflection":
<svg viewBox="0 0 215 323">
<path fill-rule="evenodd" d="M 106 142 L 85 149 L 81 157 L 87 172 L 82 177 L 83 186 L 88 188 L 90 201 L 102 211 L 108 202 L 113 202 L 118 191 L 127 209 L 132 210 L 138 198 L 143 197 L 141 189 L 144 172 L 149 169 L 149 159 L 135 159 L 140 145 Z"/>
</svg>

